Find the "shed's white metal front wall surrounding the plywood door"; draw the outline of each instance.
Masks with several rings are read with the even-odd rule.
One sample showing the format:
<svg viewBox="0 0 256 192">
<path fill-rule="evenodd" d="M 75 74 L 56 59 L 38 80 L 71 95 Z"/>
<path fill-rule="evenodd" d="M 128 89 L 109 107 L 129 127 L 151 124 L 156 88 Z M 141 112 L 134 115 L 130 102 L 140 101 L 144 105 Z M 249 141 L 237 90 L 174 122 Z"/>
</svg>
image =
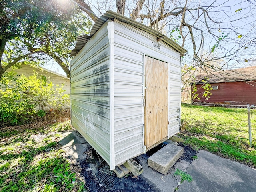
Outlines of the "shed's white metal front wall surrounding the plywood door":
<svg viewBox="0 0 256 192">
<path fill-rule="evenodd" d="M 169 63 L 168 136 L 179 132 L 180 54 L 162 42 L 159 50 L 153 46 L 156 37 L 114 21 L 115 164 L 120 164 L 144 152 L 144 54 Z"/>
</svg>

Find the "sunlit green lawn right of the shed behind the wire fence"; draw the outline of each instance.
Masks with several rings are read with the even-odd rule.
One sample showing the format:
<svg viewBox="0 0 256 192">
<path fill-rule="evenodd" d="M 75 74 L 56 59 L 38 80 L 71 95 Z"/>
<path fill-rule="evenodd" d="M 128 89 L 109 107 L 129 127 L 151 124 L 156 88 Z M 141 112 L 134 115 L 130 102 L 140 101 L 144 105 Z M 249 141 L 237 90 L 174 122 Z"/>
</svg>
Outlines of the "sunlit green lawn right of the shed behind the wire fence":
<svg viewBox="0 0 256 192">
<path fill-rule="evenodd" d="M 251 110 L 251 148 L 247 109 L 182 104 L 181 122 L 186 145 L 256 167 L 256 109 Z"/>
</svg>

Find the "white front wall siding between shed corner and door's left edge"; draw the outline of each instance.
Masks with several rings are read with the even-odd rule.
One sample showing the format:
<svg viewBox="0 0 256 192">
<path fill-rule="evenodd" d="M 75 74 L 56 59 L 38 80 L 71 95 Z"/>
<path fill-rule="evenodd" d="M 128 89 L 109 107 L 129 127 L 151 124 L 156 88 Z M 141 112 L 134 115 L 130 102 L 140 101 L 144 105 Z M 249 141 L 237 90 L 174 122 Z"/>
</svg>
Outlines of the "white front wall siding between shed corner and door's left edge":
<svg viewBox="0 0 256 192">
<path fill-rule="evenodd" d="M 143 152 L 143 53 L 114 32 L 115 163 L 120 164 Z"/>
</svg>

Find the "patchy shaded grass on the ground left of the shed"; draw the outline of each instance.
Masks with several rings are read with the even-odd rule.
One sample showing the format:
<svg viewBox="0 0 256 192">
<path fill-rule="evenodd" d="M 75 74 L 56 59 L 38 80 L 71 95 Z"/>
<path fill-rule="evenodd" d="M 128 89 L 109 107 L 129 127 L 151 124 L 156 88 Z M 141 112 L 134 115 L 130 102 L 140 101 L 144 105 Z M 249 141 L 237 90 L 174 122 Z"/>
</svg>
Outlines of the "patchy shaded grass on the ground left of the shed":
<svg viewBox="0 0 256 192">
<path fill-rule="evenodd" d="M 60 132 L 70 121 L 0 129 L 1 192 L 83 192 L 85 185 L 64 158 Z"/>
</svg>

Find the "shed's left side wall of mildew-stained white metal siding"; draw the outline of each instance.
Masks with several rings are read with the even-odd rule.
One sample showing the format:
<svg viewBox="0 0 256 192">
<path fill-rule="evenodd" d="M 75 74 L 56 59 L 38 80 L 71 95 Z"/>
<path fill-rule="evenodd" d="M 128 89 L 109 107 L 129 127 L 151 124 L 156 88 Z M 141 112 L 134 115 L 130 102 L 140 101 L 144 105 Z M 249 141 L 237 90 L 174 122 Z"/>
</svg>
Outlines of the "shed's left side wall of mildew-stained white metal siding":
<svg viewBox="0 0 256 192">
<path fill-rule="evenodd" d="M 106 24 L 71 61 L 71 120 L 78 132 L 110 164 L 109 40 Z"/>
</svg>

